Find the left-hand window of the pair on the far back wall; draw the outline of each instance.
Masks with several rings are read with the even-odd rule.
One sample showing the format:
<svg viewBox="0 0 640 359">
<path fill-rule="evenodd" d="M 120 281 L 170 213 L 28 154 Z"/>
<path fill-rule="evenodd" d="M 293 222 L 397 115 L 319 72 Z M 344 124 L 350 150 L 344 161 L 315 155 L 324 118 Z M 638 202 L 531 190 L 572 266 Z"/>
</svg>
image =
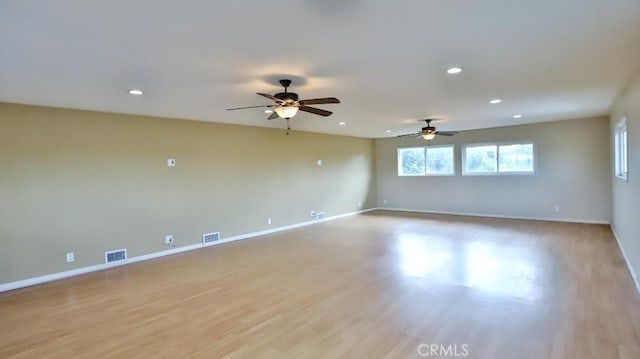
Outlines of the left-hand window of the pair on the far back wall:
<svg viewBox="0 0 640 359">
<path fill-rule="evenodd" d="M 455 175 L 453 155 L 453 145 L 398 148 L 398 176 Z"/>
</svg>

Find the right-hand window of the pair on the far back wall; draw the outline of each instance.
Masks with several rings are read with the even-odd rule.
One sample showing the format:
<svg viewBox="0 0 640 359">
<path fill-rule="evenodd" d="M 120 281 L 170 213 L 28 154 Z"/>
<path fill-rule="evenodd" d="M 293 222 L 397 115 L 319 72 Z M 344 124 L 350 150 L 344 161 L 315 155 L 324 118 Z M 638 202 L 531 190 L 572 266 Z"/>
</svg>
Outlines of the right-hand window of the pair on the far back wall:
<svg viewBox="0 0 640 359">
<path fill-rule="evenodd" d="M 533 174 L 533 142 L 464 145 L 462 174 Z"/>
</svg>

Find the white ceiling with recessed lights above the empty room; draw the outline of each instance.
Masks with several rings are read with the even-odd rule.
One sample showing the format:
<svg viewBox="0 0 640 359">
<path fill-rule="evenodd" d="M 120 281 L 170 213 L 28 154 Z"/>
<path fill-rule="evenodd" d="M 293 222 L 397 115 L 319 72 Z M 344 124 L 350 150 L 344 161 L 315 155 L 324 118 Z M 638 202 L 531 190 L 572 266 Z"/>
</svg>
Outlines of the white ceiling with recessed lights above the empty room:
<svg viewBox="0 0 640 359">
<path fill-rule="evenodd" d="M 0 0 L 4 102 L 284 128 L 225 109 L 291 78 L 342 100 L 294 130 L 379 138 L 605 115 L 639 65 L 639 0 Z"/>
</svg>

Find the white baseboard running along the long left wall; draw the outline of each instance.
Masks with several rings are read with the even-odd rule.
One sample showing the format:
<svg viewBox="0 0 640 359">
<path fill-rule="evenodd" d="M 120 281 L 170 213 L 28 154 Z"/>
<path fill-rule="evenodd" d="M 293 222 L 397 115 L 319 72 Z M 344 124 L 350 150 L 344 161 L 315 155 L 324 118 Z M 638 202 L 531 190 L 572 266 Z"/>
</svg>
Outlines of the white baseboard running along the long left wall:
<svg viewBox="0 0 640 359">
<path fill-rule="evenodd" d="M 119 263 L 115 263 L 115 264 L 104 264 L 104 263 L 103 264 L 96 264 L 96 265 L 92 265 L 92 266 L 88 266 L 88 267 L 82 267 L 82 268 L 76 268 L 76 269 L 72 269 L 72 270 L 68 270 L 68 271 L 64 271 L 64 272 L 51 273 L 51 274 L 46 274 L 46 275 L 42 275 L 42 276 L 38 276 L 38 277 L 34 277 L 34 278 L 18 280 L 18 281 L 15 281 L 15 282 L 2 283 L 2 284 L 0 284 L 0 293 L 6 292 L 6 291 L 10 291 L 10 290 L 14 290 L 14 289 L 19 289 L 19 288 L 30 287 L 30 286 L 37 285 L 37 284 L 53 282 L 53 281 L 56 281 L 56 280 L 65 279 L 65 278 L 69 278 L 69 277 L 75 277 L 75 276 L 81 275 L 81 274 L 97 272 L 97 271 L 100 271 L 100 270 L 109 269 L 109 268 L 113 268 L 113 267 L 118 267 L 118 266 L 121 266 L 121 265 L 126 265 L 126 264 L 131 264 L 131 263 L 136 263 L 136 262 L 142 262 L 142 261 L 146 261 L 146 260 L 149 260 L 149 259 L 164 257 L 164 256 L 172 255 L 172 254 L 192 251 L 192 250 L 195 250 L 195 249 L 200 249 L 200 248 L 205 248 L 205 247 L 211 247 L 211 246 L 218 245 L 218 244 L 229 243 L 229 242 L 238 241 L 238 240 L 242 240 L 242 239 L 259 237 L 259 236 L 264 236 L 264 235 L 271 234 L 271 233 L 282 232 L 282 231 L 286 231 L 286 230 L 290 230 L 290 229 L 294 229 L 294 228 L 309 226 L 309 225 L 320 223 L 320 222 L 330 221 L 330 220 L 334 220 L 334 219 L 338 219 L 338 218 L 343 218 L 343 217 L 353 216 L 353 215 L 360 214 L 360 213 L 374 211 L 376 209 L 377 208 L 374 207 L 374 208 L 364 209 L 364 210 L 361 210 L 361 211 L 349 212 L 349 213 L 344 213 L 344 214 L 340 214 L 340 215 L 337 215 L 337 216 L 327 217 L 327 218 L 325 218 L 323 220 L 313 220 L 313 221 L 301 222 L 301 223 L 296 223 L 296 224 L 292 224 L 292 225 L 288 225 L 288 226 L 282 226 L 282 227 L 277 227 L 277 228 L 273 228 L 273 229 L 268 229 L 268 230 L 265 230 L 265 231 L 240 234 L 240 235 L 237 235 L 237 236 L 233 236 L 233 237 L 229 237 L 229 238 L 225 238 L 225 239 L 220 239 L 219 241 L 216 241 L 216 242 L 213 242 L 213 243 L 210 243 L 210 244 L 201 244 L 201 243 L 191 244 L 191 245 L 184 246 L 184 247 L 172 248 L 172 249 L 169 249 L 169 250 L 166 250 L 166 251 L 143 254 L 143 255 L 140 255 L 140 256 L 135 256 L 135 257 L 128 258 L 124 262 L 119 262 Z"/>
</svg>

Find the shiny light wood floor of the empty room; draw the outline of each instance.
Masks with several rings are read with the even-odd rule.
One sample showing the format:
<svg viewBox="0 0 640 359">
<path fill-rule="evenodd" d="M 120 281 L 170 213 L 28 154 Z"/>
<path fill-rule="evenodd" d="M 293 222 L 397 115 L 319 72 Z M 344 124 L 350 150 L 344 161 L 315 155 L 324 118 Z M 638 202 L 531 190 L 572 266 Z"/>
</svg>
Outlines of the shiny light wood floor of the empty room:
<svg viewBox="0 0 640 359">
<path fill-rule="evenodd" d="M 381 211 L 0 293 L 0 358 L 419 358 L 421 344 L 638 359 L 640 298 L 607 226 Z"/>
</svg>

